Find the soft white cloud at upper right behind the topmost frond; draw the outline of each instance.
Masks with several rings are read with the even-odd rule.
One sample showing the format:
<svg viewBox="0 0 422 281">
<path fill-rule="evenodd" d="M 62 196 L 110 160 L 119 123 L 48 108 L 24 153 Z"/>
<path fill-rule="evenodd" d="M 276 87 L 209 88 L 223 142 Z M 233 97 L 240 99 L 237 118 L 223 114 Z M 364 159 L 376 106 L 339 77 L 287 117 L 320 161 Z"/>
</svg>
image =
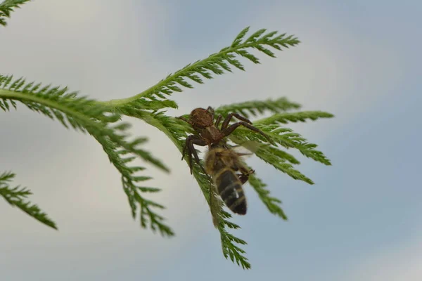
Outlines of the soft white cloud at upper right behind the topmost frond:
<svg viewBox="0 0 422 281">
<path fill-rule="evenodd" d="M 174 96 L 181 100 L 181 110 L 287 96 L 304 105 L 304 110 L 333 112 L 335 119 L 324 122 L 325 134 L 371 110 L 392 94 L 390 89 L 401 79 L 404 66 L 397 49 L 347 30 L 324 11 L 281 4 L 262 6 L 255 14 L 256 18 L 244 20 L 243 26 L 251 25 L 250 32 L 265 27 L 295 34 L 302 43 L 275 51 L 277 58 L 258 54 L 261 65 L 242 59 L 246 72 L 235 71 L 207 81 L 207 86 L 198 85 L 194 91 L 177 93 Z M 315 133 L 309 124 L 295 127 Z"/>
</svg>

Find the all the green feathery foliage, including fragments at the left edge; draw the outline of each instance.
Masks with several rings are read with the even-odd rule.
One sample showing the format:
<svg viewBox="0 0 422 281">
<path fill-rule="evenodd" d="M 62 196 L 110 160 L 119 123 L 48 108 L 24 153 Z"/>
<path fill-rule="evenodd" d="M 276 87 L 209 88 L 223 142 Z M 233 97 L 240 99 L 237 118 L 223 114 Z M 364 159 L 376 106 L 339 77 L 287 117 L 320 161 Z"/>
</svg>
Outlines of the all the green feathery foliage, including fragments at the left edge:
<svg viewBox="0 0 422 281">
<path fill-rule="evenodd" d="M 25 2 L 27 1 L 6 0 L 2 2 L 0 4 L 0 24 L 6 25 L 5 18 L 10 17 L 13 8 L 18 8 L 20 4 L 25 4 Z M 255 64 L 260 63 L 259 58 L 250 53 L 252 49 L 274 58 L 275 54 L 270 48 L 281 51 L 282 48 L 289 48 L 300 43 L 293 35 L 277 35 L 277 32 L 267 32 L 264 29 L 246 37 L 248 31 L 249 27 L 242 30 L 229 46 L 222 48 L 219 52 L 186 65 L 181 70 L 177 70 L 165 79 L 158 81 L 157 84 L 146 89 L 146 91 L 120 100 L 100 102 L 79 97 L 75 92 L 69 93 L 66 88 L 41 87 L 41 84 L 27 83 L 23 78 L 13 80 L 11 76 L 0 75 L 0 108 L 8 111 L 21 103 L 30 110 L 58 120 L 67 128 L 72 127 L 77 131 L 89 133 L 102 145 L 110 162 L 120 172 L 123 190 L 128 197 L 132 216 L 136 217 L 139 206 L 139 217 L 143 228 L 149 226 L 153 231 L 158 230 L 163 236 L 172 236 L 174 235 L 172 229 L 166 226 L 163 223 L 164 218 L 155 212 L 155 209 L 164 209 L 164 207 L 143 197 L 145 192 L 158 192 L 160 189 L 141 185 L 140 183 L 151 178 L 136 174 L 139 171 L 145 171 L 145 167 L 129 166 L 129 163 L 136 157 L 140 157 L 162 171 L 169 171 L 169 169 L 149 152 L 139 148 L 139 145 L 146 142 L 146 138 L 128 141 L 129 124 L 117 122 L 122 116 L 141 119 L 165 133 L 181 152 L 186 136 L 195 132 L 185 122 L 165 115 L 165 110 L 168 108 L 177 108 L 177 103 L 169 99 L 172 93 L 181 92 L 184 88 L 193 88 L 192 81 L 203 84 L 205 79 L 212 79 L 215 75 L 231 72 L 233 67 L 245 70 L 241 58 L 250 60 Z M 273 114 L 271 117 L 258 119 L 254 122 L 254 125 L 270 136 L 270 143 L 259 134 L 243 128 L 236 129 L 229 136 L 230 140 L 237 144 L 245 141 L 260 143 L 260 148 L 256 152 L 257 157 L 292 178 L 312 184 L 312 180 L 293 167 L 293 165 L 300 164 L 298 159 L 295 159 L 293 155 L 282 150 L 279 146 L 285 149 L 297 149 L 302 155 L 326 165 L 331 163 L 322 152 L 316 150 L 316 145 L 308 143 L 300 134 L 283 125 L 288 122 L 305 122 L 307 119 L 329 118 L 333 115 L 318 111 L 292 112 L 299 109 L 300 105 L 297 103 L 292 103 L 286 98 L 279 98 L 277 100 L 251 100 L 233 105 L 223 105 L 217 108 L 216 112 L 223 116 L 230 112 L 237 112 L 245 117 L 257 117 L 264 112 L 271 112 Z M 42 223 L 56 228 L 55 224 L 36 205 L 23 202 L 23 198 L 30 195 L 28 190 L 9 187 L 8 181 L 13 176 L 14 174 L 11 173 L 0 176 L 0 195 L 13 206 L 23 209 L 27 214 Z M 224 211 L 222 201 L 216 197 L 215 187 L 210 176 L 204 174 L 203 169 L 195 162 L 193 163 L 193 176 L 210 206 L 213 221 L 219 230 L 224 257 L 231 259 L 244 269 L 250 268 L 250 263 L 245 257 L 245 251 L 240 247 L 245 245 L 246 242 L 229 233 L 229 229 L 236 230 L 240 227 L 229 221 L 231 214 Z M 287 219 L 286 214 L 280 207 L 281 200 L 270 196 L 267 185 L 260 178 L 252 175 L 249 183 L 272 214 Z"/>
</svg>

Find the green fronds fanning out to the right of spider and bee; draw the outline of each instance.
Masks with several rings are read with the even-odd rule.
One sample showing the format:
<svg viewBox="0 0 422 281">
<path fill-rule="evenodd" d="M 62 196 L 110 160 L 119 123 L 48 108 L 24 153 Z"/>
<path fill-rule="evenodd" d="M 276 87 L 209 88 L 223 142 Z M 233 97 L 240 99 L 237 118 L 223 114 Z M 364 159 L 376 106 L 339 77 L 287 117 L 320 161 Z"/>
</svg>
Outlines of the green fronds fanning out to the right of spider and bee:
<svg viewBox="0 0 422 281">
<path fill-rule="evenodd" d="M 288 100 L 284 99 L 284 103 L 289 104 Z M 266 103 L 268 104 L 266 107 L 262 107 L 260 109 L 260 113 L 264 113 L 265 111 L 276 112 L 273 108 L 273 104 L 278 104 L 279 100 L 267 100 Z M 243 112 L 243 115 L 248 116 L 247 110 L 249 109 L 249 102 L 235 104 L 233 107 L 231 105 L 225 105 L 224 110 L 220 110 L 217 108 L 216 112 Z M 241 106 L 239 106 L 241 105 Z M 261 106 L 260 103 L 257 105 Z M 244 106 L 244 107 L 243 107 Z M 298 105 L 296 108 L 300 108 Z M 290 108 L 284 109 L 288 110 Z M 281 111 L 281 110 L 279 110 Z M 226 113 L 227 114 L 227 113 Z M 226 115 L 225 114 L 225 115 Z M 224 115 L 224 116 L 225 116 Z M 331 165 L 331 162 L 326 158 L 324 153 L 315 150 L 317 145 L 313 143 L 308 143 L 305 138 L 300 136 L 300 134 L 293 132 L 292 129 L 282 127 L 281 124 L 287 124 L 288 122 L 306 122 L 306 119 L 316 120 L 319 118 L 331 118 L 333 117 L 332 114 L 327 112 L 284 112 L 284 113 L 276 113 L 271 117 L 258 119 L 253 122 L 254 126 L 258 129 L 261 129 L 266 133 L 268 136 L 271 137 L 276 144 L 283 146 L 284 148 L 295 148 L 299 150 L 302 155 L 314 159 L 317 162 L 321 162 L 326 165 Z M 304 174 L 300 173 L 298 169 L 295 169 L 293 166 L 294 164 L 300 164 L 299 160 L 296 159 L 293 155 L 290 155 L 288 152 L 281 150 L 278 146 L 275 146 L 272 143 L 268 143 L 267 139 L 252 132 L 248 129 L 238 128 L 236 131 L 231 133 L 229 139 L 236 143 L 237 145 L 242 145 L 243 143 L 247 143 L 250 141 L 255 141 L 257 143 L 261 143 L 260 147 L 255 151 L 255 155 L 262 159 L 267 164 L 274 166 L 274 168 L 282 171 L 283 173 L 287 174 L 291 178 L 295 180 L 305 181 L 305 183 L 309 183 L 311 185 L 314 184 L 312 179 L 308 178 Z M 250 176 L 249 181 L 252 188 L 255 189 L 260 200 L 266 205 L 267 209 L 272 214 L 276 214 L 283 219 L 287 219 L 286 214 L 284 213 L 283 209 L 279 206 L 281 204 L 281 200 L 271 197 L 269 195 L 269 190 L 267 190 L 267 185 L 257 178 L 256 174 Z"/>
</svg>

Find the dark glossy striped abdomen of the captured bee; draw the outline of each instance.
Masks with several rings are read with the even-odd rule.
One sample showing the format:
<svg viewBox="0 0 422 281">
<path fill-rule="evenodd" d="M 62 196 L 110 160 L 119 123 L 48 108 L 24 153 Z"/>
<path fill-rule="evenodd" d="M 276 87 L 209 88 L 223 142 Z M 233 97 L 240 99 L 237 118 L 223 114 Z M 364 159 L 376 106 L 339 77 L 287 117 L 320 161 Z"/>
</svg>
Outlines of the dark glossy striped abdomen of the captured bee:
<svg viewBox="0 0 422 281">
<path fill-rule="evenodd" d="M 226 170 L 217 179 L 217 189 L 226 206 L 236 214 L 246 214 L 246 198 L 242 183 L 234 171 Z"/>
</svg>

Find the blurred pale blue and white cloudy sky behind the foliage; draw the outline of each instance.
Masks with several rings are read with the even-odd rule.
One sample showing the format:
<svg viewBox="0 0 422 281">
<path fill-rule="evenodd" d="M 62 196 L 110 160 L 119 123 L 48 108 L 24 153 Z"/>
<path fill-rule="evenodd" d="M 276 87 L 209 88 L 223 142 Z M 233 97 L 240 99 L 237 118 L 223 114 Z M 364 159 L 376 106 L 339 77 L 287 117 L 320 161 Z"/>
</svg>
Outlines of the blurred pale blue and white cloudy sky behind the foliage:
<svg viewBox="0 0 422 281">
<path fill-rule="evenodd" d="M 180 153 L 135 119 L 132 132 L 164 159 L 148 166 L 153 197 L 176 236 L 143 230 L 120 177 L 93 138 L 20 106 L 0 112 L 0 171 L 32 190 L 51 230 L 0 200 L 2 280 L 392 281 L 422 278 L 422 47 L 418 1 L 36 0 L 0 29 L 0 73 L 69 86 L 98 100 L 127 98 L 231 44 L 244 27 L 295 34 L 302 43 L 172 98 L 195 107 L 287 97 L 335 115 L 289 124 L 333 166 L 301 157 L 307 185 L 252 159 L 283 201 L 288 221 L 245 185 L 248 215 L 234 234 L 252 264 L 222 256 L 219 233 Z"/>
</svg>

